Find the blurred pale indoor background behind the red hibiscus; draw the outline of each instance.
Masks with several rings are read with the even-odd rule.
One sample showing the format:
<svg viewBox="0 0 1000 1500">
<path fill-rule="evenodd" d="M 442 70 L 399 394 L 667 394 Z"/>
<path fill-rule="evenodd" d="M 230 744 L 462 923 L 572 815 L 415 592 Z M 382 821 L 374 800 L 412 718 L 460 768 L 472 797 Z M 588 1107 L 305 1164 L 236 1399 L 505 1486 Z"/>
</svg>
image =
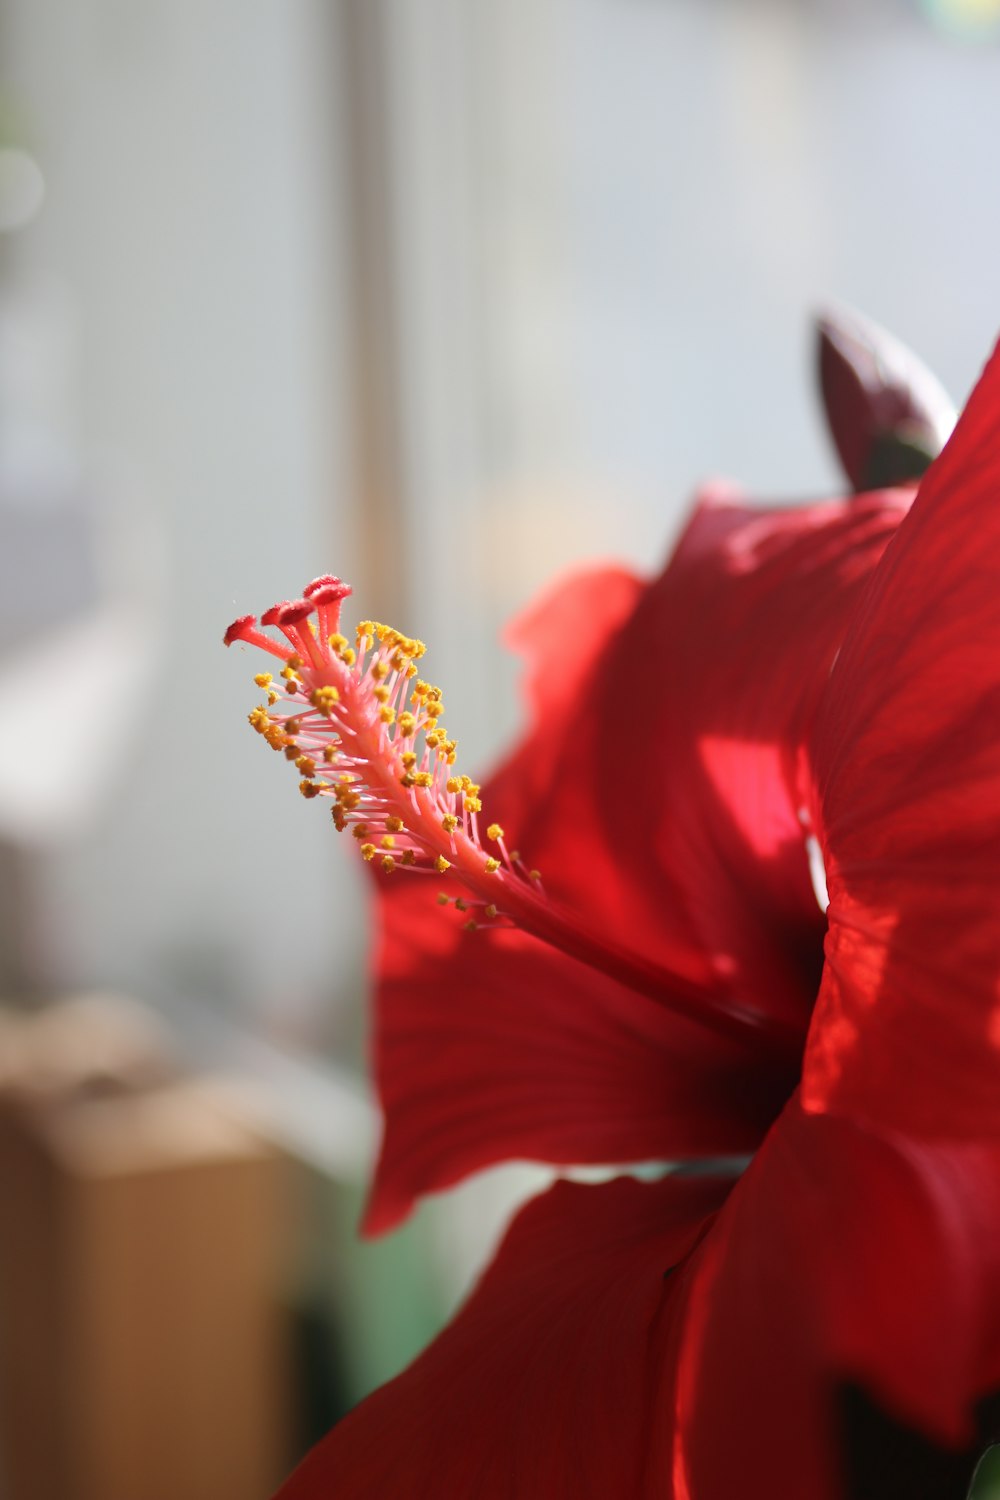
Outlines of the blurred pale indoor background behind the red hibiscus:
<svg viewBox="0 0 1000 1500">
<path fill-rule="evenodd" d="M 652 570 L 706 477 L 838 488 L 817 306 L 964 399 L 997 138 L 996 0 L 0 0 L 0 1494 L 138 1494 L 94 1434 L 195 1368 L 172 1450 L 256 1412 L 205 1494 L 265 1494 L 543 1180 L 354 1244 L 367 891 L 223 627 L 340 573 L 484 770 L 499 627 L 555 572 Z M 90 1456 L 28 1480 L 39 1412 Z"/>
</svg>

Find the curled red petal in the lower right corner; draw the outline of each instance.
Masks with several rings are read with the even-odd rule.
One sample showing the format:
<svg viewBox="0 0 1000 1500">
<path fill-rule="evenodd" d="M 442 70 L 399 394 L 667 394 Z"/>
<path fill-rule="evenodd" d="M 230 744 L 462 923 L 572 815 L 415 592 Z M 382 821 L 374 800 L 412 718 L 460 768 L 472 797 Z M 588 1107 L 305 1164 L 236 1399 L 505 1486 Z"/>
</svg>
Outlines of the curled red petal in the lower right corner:
<svg viewBox="0 0 1000 1500">
<path fill-rule="evenodd" d="M 1000 1386 L 997 1148 L 922 1149 L 790 1106 L 697 1258 L 679 1496 L 874 1492 L 847 1485 L 847 1386 L 934 1448 L 975 1444 Z M 900 1485 L 879 1492 L 915 1492 Z"/>
</svg>

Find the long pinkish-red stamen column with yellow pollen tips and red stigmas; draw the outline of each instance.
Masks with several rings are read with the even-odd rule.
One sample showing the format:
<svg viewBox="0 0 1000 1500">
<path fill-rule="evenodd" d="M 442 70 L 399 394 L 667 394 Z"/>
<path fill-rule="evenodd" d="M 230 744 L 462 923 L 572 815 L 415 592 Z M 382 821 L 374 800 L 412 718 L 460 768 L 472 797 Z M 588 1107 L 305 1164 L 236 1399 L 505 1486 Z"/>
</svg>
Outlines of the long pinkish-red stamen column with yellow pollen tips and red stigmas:
<svg viewBox="0 0 1000 1500">
<path fill-rule="evenodd" d="M 351 832 L 361 858 L 370 864 L 378 856 L 385 876 L 405 870 L 457 880 L 463 896 L 441 892 L 438 902 L 481 912 L 484 922 L 465 924 L 471 930 L 520 927 L 688 1020 L 750 1042 L 775 1032 L 775 1023 L 756 1011 L 726 996 L 706 998 L 559 906 L 520 850 L 508 854 L 499 824 L 486 828 L 499 856 L 483 848 L 480 788 L 454 771 L 456 744 L 439 724 L 441 688 L 417 676 L 423 642 L 366 620 L 357 627 L 355 652 L 337 628 L 349 592 L 342 579 L 322 574 L 301 598 L 265 610 L 259 626 L 253 615 L 235 620 L 223 640 L 259 646 L 283 662 L 280 682 L 256 675 L 268 700 L 253 710 L 250 724 L 273 750 L 285 752 L 304 798 L 333 801 L 334 826 Z M 286 644 L 261 628 L 271 626 Z M 294 702 L 294 714 L 273 711 L 279 690 Z M 787 1046 L 798 1060 L 798 1028 L 771 1041 Z"/>
</svg>

